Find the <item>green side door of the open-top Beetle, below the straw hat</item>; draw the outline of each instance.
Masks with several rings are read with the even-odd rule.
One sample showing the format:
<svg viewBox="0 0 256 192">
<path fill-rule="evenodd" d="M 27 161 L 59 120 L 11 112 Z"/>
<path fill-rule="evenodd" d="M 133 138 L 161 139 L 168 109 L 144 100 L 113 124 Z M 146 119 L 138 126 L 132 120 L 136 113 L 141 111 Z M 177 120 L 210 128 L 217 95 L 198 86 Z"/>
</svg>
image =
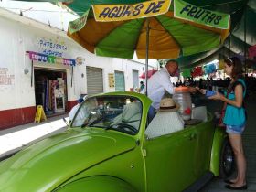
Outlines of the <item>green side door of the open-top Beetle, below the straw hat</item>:
<svg viewBox="0 0 256 192">
<path fill-rule="evenodd" d="M 187 128 L 144 141 L 149 192 L 182 191 L 196 179 L 197 129 Z"/>
</svg>

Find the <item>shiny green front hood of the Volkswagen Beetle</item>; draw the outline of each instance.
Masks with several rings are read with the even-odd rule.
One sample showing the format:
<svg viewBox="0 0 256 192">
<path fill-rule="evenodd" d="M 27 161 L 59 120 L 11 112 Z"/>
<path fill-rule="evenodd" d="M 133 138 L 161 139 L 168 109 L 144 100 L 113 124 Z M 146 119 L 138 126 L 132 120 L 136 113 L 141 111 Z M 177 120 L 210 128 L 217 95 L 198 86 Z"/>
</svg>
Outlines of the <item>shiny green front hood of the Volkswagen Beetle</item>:
<svg viewBox="0 0 256 192">
<path fill-rule="evenodd" d="M 133 137 L 97 129 L 52 136 L 0 163 L 0 191 L 49 191 L 135 147 Z"/>
</svg>

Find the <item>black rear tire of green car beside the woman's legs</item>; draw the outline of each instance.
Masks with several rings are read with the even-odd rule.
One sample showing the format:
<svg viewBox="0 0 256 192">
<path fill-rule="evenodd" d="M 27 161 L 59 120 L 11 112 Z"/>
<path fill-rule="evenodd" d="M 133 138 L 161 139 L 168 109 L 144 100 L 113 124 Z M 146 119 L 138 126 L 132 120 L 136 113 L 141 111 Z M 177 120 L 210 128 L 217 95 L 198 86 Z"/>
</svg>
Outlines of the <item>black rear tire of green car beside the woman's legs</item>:
<svg viewBox="0 0 256 192">
<path fill-rule="evenodd" d="M 219 177 L 227 178 L 232 175 L 235 167 L 235 156 L 229 140 L 225 139 L 221 148 Z"/>
</svg>

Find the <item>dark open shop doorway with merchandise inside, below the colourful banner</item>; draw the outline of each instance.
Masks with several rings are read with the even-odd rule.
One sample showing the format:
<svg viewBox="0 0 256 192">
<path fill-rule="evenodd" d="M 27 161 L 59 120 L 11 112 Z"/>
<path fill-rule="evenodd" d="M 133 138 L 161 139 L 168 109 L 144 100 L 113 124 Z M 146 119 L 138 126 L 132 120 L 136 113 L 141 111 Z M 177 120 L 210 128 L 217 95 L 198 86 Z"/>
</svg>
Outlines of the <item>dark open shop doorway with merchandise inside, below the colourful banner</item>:
<svg viewBox="0 0 256 192">
<path fill-rule="evenodd" d="M 66 112 L 67 73 L 66 70 L 35 69 L 36 106 L 42 105 L 47 116 Z"/>
</svg>

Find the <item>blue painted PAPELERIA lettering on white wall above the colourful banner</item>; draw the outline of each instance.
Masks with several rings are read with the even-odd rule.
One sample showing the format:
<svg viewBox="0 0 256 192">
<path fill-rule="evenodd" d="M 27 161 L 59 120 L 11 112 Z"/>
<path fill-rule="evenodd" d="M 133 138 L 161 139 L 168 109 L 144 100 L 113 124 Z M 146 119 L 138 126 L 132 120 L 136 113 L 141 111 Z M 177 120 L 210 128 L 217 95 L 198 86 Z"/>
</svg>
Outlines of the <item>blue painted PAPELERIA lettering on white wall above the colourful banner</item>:
<svg viewBox="0 0 256 192">
<path fill-rule="evenodd" d="M 46 37 L 42 37 L 38 40 L 38 46 L 40 52 L 59 58 L 64 57 L 64 53 L 69 50 L 68 46 L 65 45 L 65 42 L 59 42 L 59 39 L 53 40 Z"/>
</svg>

